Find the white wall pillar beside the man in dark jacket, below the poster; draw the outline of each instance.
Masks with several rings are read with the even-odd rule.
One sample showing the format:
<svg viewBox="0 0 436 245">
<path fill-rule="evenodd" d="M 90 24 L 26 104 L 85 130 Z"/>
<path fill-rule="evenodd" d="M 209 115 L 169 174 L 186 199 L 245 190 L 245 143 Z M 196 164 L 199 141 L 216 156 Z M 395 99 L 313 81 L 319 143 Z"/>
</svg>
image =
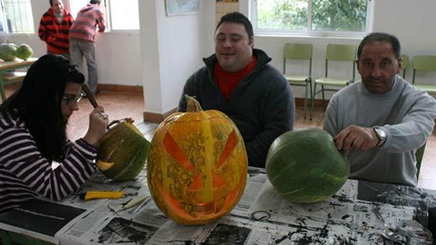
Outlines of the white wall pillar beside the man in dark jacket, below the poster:
<svg viewBox="0 0 436 245">
<path fill-rule="evenodd" d="M 178 105 L 186 79 L 201 66 L 201 18 L 166 16 L 162 0 L 139 1 L 139 13 L 145 111 L 162 114 Z"/>
</svg>

